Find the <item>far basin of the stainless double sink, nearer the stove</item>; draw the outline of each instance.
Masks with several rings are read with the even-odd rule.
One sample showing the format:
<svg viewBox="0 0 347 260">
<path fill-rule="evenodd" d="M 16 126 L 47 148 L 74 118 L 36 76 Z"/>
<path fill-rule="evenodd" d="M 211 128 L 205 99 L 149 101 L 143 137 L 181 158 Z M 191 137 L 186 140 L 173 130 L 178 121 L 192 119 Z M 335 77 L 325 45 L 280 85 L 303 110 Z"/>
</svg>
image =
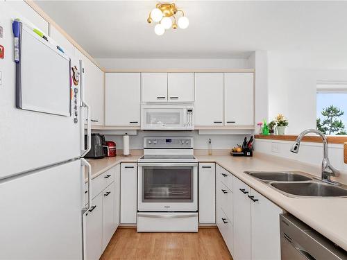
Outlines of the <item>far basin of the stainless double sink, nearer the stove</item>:
<svg viewBox="0 0 347 260">
<path fill-rule="evenodd" d="M 292 172 L 271 172 L 271 171 L 245 171 L 248 175 L 256 177 L 263 182 L 304 182 L 307 180 L 312 180 L 311 177 L 307 177 L 300 173 Z"/>
</svg>

